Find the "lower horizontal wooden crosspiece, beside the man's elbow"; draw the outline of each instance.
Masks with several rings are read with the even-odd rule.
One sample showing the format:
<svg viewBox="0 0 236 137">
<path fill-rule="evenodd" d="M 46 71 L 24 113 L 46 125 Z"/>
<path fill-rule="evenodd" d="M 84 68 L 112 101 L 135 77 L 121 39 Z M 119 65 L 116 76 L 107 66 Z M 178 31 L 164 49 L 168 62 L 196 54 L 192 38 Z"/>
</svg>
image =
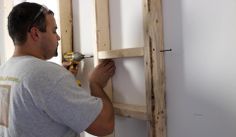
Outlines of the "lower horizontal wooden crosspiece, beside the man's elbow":
<svg viewBox="0 0 236 137">
<path fill-rule="evenodd" d="M 115 113 L 120 116 L 148 120 L 146 106 L 113 103 Z"/>
</svg>

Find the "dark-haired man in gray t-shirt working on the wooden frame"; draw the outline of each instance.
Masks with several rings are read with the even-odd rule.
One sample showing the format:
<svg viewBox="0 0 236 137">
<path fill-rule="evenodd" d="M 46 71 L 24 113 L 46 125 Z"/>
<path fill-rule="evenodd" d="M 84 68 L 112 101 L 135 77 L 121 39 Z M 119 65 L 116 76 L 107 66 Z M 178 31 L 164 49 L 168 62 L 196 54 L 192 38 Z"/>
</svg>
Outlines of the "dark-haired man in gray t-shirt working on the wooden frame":
<svg viewBox="0 0 236 137">
<path fill-rule="evenodd" d="M 0 67 L 0 137 L 96 136 L 114 128 L 113 107 L 104 93 L 115 73 L 111 60 L 92 72 L 90 93 L 65 68 L 45 60 L 57 55 L 60 37 L 53 12 L 36 4 L 16 5 L 8 17 L 15 51 Z"/>
</svg>

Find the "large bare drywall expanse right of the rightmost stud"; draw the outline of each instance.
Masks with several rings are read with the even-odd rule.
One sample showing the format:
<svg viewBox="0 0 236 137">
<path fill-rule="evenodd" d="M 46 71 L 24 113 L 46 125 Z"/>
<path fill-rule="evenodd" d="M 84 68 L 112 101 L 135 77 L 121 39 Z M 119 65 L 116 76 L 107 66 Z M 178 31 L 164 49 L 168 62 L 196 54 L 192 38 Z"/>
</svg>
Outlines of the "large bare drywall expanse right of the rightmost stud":
<svg viewBox="0 0 236 137">
<path fill-rule="evenodd" d="M 236 1 L 163 8 L 168 137 L 235 137 Z"/>
</svg>

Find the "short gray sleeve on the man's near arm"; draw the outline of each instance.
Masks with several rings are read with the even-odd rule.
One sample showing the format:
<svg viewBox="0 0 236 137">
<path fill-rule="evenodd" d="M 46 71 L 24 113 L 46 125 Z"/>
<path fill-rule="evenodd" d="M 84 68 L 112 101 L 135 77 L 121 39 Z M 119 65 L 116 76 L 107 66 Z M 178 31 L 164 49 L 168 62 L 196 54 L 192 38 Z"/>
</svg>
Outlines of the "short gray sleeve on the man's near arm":
<svg viewBox="0 0 236 137">
<path fill-rule="evenodd" d="M 45 97 L 44 110 L 53 120 L 78 133 L 87 129 L 102 110 L 102 100 L 77 86 L 71 75 L 65 75 L 52 88 Z"/>
</svg>

